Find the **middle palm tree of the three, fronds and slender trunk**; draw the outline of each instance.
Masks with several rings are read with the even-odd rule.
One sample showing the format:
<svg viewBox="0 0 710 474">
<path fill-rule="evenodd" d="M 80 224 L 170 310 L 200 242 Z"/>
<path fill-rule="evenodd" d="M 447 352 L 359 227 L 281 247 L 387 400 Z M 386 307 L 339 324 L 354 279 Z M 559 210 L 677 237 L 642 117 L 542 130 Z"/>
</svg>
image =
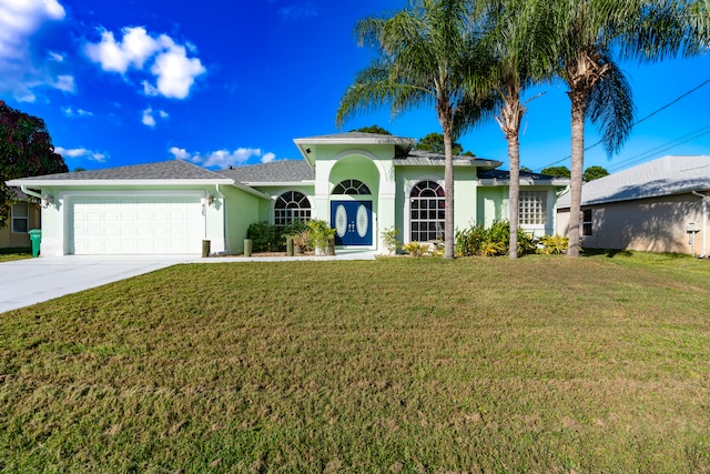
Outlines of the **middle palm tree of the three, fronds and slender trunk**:
<svg viewBox="0 0 710 474">
<path fill-rule="evenodd" d="M 491 0 L 487 2 L 489 23 L 487 38 L 493 42 L 496 63 L 490 79 L 501 99 L 496 115 L 508 141 L 510 184 L 508 219 L 510 221 L 510 259 L 518 258 L 518 201 L 520 195 L 520 123 L 527 111 L 521 102 L 526 89 L 552 77 L 555 65 L 551 11 L 539 0 Z"/>
</svg>

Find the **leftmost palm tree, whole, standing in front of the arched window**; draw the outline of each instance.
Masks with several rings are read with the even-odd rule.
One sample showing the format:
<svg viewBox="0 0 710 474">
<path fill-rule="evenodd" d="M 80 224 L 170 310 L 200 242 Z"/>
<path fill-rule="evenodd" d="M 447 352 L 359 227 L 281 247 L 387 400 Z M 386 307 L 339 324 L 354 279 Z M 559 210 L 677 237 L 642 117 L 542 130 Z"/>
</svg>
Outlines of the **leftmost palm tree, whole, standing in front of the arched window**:
<svg viewBox="0 0 710 474">
<path fill-rule="evenodd" d="M 417 0 L 389 18 L 358 21 L 355 33 L 359 44 L 368 43 L 379 54 L 356 75 L 336 115 L 339 125 L 351 115 L 385 104 L 390 104 L 393 115 L 434 105 L 444 134 L 446 259 L 454 259 L 452 144 L 466 127 L 493 109 L 493 102 L 485 101 L 488 91 L 475 88 L 487 54 L 474 31 L 470 11 L 467 0 Z M 463 120 L 465 115 L 467 120 Z"/>
</svg>

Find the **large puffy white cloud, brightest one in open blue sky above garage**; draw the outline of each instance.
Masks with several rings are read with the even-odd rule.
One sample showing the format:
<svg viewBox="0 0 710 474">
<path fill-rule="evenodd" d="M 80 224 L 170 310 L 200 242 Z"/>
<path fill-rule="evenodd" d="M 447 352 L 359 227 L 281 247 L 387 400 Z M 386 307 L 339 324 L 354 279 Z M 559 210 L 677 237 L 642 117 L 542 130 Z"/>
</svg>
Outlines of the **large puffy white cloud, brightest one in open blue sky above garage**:
<svg viewBox="0 0 710 474">
<path fill-rule="evenodd" d="M 195 51 L 192 43 L 178 44 L 166 34 L 150 34 L 143 27 L 121 31 L 123 37 L 116 41 L 113 32 L 102 30 L 101 41 L 88 43 L 84 51 L 104 71 L 125 74 L 133 69 L 150 73 L 154 81 L 141 81 L 148 95 L 185 99 L 195 78 L 206 72 L 199 58 L 187 57 L 187 50 Z"/>
</svg>

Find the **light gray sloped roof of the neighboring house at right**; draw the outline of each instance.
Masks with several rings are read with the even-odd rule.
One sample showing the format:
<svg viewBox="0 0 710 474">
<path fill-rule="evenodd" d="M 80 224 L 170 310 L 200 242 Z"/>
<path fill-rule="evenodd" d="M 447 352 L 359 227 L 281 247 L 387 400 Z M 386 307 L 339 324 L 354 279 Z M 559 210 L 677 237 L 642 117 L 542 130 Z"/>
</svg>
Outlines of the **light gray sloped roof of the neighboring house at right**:
<svg viewBox="0 0 710 474">
<path fill-rule="evenodd" d="M 581 205 L 710 190 L 710 157 L 663 157 L 585 183 Z M 569 193 L 558 201 L 569 208 Z"/>
</svg>

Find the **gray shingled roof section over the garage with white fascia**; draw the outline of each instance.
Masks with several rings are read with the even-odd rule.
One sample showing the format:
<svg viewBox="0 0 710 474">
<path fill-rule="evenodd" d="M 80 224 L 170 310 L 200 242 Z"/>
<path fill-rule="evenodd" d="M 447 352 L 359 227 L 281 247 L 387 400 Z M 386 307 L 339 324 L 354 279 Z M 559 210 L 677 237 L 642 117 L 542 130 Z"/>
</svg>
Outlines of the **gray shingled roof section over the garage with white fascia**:
<svg viewBox="0 0 710 474">
<path fill-rule="evenodd" d="M 217 181 L 226 183 L 229 180 L 214 171 L 206 170 L 196 164 L 183 160 L 160 161 L 148 164 L 133 164 L 129 167 L 106 168 L 103 170 L 74 171 L 71 173 L 44 174 L 41 177 L 22 178 L 12 180 L 13 185 L 41 182 L 49 184 L 52 181 L 61 181 L 63 184 L 85 183 L 90 181 Z M 229 181 L 231 182 L 231 181 Z"/>
</svg>

